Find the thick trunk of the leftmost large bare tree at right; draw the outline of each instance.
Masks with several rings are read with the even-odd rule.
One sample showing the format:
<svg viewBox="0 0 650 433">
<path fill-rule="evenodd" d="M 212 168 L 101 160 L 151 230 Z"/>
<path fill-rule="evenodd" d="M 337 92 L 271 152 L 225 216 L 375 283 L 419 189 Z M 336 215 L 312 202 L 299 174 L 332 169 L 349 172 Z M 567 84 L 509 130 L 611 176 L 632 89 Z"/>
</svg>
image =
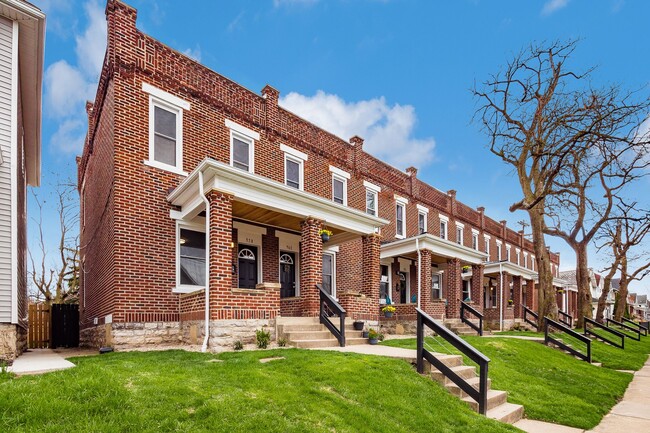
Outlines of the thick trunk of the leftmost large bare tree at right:
<svg viewBox="0 0 650 433">
<path fill-rule="evenodd" d="M 540 203 L 530 209 L 528 214 L 533 232 L 537 274 L 539 275 L 537 286 L 537 314 L 539 314 L 539 321 L 537 322 L 537 330 L 541 332 L 544 326 L 544 317 L 548 316 L 551 319 L 557 319 L 557 302 L 553 290 L 551 257 L 546 249 L 546 240 L 544 239 L 544 215 L 540 211 L 544 209 L 544 205 Z"/>
</svg>

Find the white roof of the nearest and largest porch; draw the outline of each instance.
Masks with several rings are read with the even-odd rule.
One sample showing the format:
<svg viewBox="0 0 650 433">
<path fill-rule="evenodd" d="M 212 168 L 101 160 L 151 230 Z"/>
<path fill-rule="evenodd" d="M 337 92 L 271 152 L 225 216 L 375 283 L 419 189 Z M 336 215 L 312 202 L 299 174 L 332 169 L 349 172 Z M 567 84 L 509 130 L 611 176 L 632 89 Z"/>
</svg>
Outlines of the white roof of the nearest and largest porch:
<svg viewBox="0 0 650 433">
<path fill-rule="evenodd" d="M 380 227 L 388 224 L 385 219 L 334 203 L 316 194 L 300 191 L 264 176 L 231 167 L 211 158 L 204 159 L 167 196 L 167 200 L 171 204 L 181 208 L 180 214 L 177 215 L 181 219 L 191 219 L 204 209 L 204 202 L 199 196 L 200 172 L 203 172 L 205 193 L 216 190 L 232 195 L 236 202 L 294 218 L 311 217 L 321 220 L 327 225 L 327 228 L 335 229 L 335 236 L 332 239 L 343 240 L 344 237 L 348 238 L 350 235 L 376 233 Z"/>
</svg>

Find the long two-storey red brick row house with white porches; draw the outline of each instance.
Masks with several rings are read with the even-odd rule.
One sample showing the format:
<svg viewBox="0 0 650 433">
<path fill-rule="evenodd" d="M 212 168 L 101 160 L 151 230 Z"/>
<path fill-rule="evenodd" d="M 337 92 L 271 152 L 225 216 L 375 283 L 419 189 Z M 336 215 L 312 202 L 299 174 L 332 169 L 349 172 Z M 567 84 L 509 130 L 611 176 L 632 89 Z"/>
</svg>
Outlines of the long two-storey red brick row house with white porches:
<svg viewBox="0 0 650 433">
<path fill-rule="evenodd" d="M 467 300 L 511 321 L 533 306 L 522 233 L 283 109 L 271 86 L 251 92 L 145 35 L 136 14 L 108 1 L 78 159 L 83 341 L 196 343 L 207 330 L 210 346 L 231 344 L 317 315 L 317 284 L 370 322 L 386 302 L 395 320 L 418 304 L 454 319 Z"/>
</svg>

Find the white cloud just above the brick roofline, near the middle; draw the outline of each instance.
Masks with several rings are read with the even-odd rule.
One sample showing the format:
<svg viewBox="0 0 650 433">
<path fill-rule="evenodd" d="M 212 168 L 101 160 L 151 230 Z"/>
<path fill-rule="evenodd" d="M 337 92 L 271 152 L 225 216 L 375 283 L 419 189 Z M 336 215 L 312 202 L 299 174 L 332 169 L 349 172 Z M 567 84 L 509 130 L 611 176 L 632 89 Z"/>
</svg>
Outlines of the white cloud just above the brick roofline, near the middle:
<svg viewBox="0 0 650 433">
<path fill-rule="evenodd" d="M 363 137 L 364 150 L 399 168 L 421 168 L 433 160 L 435 140 L 413 137 L 417 116 L 411 105 L 389 106 L 383 97 L 346 102 L 323 91 L 289 93 L 280 105 L 345 140 Z"/>
</svg>

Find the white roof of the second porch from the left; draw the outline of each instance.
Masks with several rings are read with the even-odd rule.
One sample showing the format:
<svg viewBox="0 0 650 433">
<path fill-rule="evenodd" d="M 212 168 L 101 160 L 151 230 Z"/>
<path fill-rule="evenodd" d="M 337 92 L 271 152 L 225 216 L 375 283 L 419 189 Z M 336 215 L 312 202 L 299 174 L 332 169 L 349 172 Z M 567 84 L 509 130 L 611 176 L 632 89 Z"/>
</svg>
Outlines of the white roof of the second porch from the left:
<svg viewBox="0 0 650 433">
<path fill-rule="evenodd" d="M 381 258 L 406 256 L 417 253 L 420 250 L 429 250 L 434 255 L 443 258 L 459 258 L 461 261 L 472 264 L 480 264 L 487 258 L 487 254 L 476 251 L 455 242 L 441 239 L 429 233 L 423 233 L 406 239 L 389 242 L 381 246 Z"/>
</svg>

